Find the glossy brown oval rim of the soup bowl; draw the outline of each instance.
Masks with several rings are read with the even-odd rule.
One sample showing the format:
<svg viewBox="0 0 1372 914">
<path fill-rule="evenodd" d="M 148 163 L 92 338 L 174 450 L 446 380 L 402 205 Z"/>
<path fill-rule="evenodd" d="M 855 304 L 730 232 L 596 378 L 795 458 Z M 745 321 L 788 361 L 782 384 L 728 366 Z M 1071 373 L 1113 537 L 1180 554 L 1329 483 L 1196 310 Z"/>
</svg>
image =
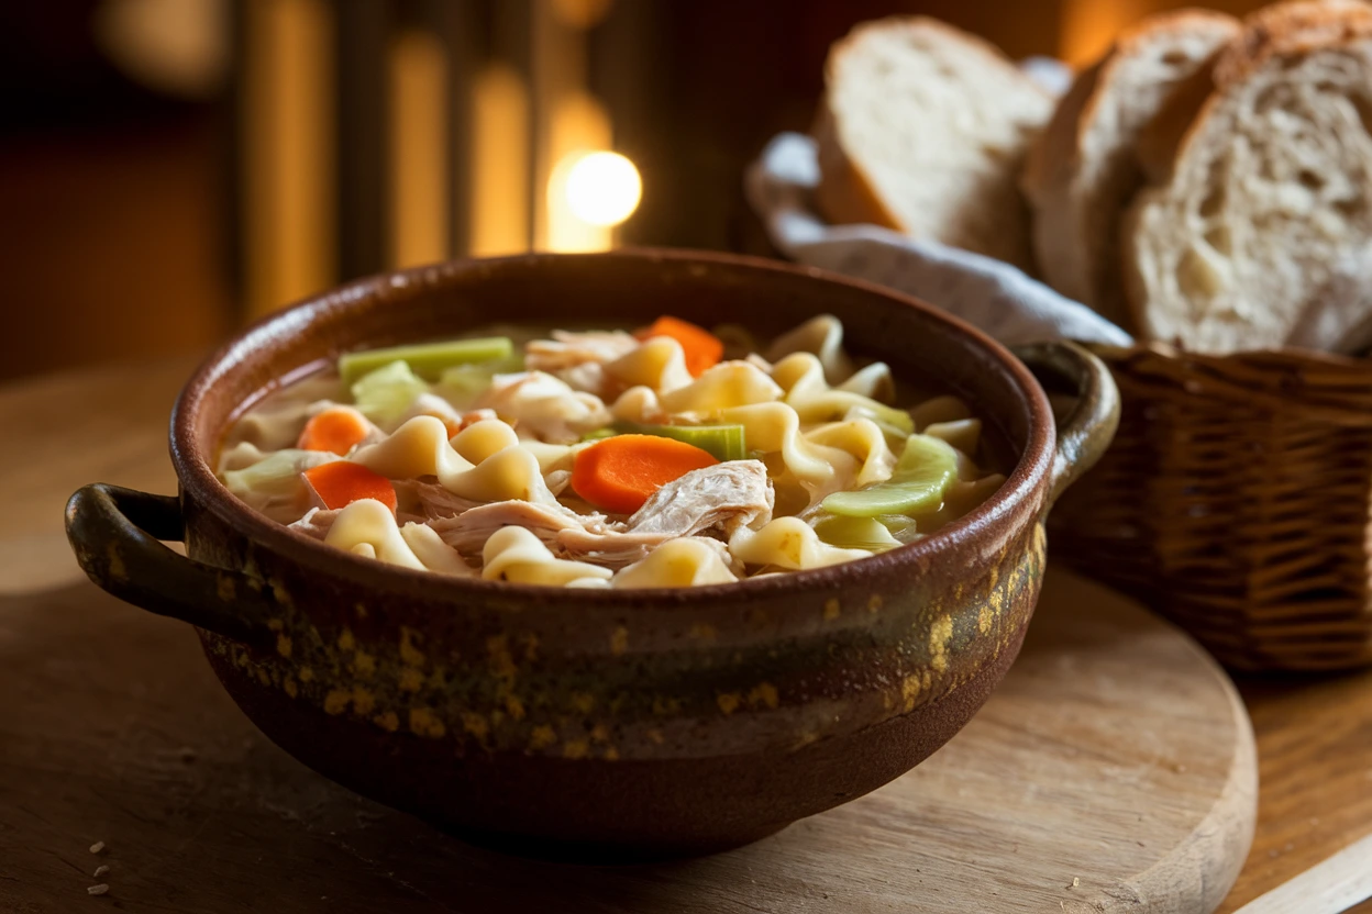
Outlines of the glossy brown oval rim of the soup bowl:
<svg viewBox="0 0 1372 914">
<path fill-rule="evenodd" d="M 1025 395 L 1029 408 L 1028 440 L 1024 452 L 1007 474 L 1006 481 L 989 499 L 915 543 L 818 569 L 783 571 L 729 584 L 678 588 L 554 588 L 539 584 L 487 581 L 480 577 L 456 577 L 386 565 L 325 545 L 314 537 L 272 521 L 240 502 L 215 475 L 195 434 L 199 408 L 209 391 L 232 371 L 236 360 L 244 359 L 246 352 L 257 348 L 255 344 L 270 337 L 298 333 L 311 323 L 317 312 L 339 304 L 346 306 L 375 297 L 386 289 L 409 285 L 439 288 L 447 280 L 472 270 L 521 263 L 536 264 L 557 259 L 700 263 L 753 273 L 807 277 L 818 282 L 837 284 L 874 295 L 892 304 L 918 308 L 929 319 L 945 323 L 955 333 L 967 337 L 971 344 L 989 352 L 1014 378 Z M 296 366 L 284 373 L 283 378 L 298 377 L 300 371 L 313 365 L 316 363 Z M 982 330 L 922 299 L 819 267 L 740 254 L 659 247 L 623 247 L 589 254 L 525 252 L 499 258 L 462 258 L 392 270 L 332 286 L 254 321 L 206 356 L 177 396 L 170 419 L 170 455 L 181 488 L 182 504 L 189 497 L 250 543 L 266 547 L 273 554 L 289 559 L 303 569 L 340 577 L 368 588 L 405 591 L 434 602 L 461 603 L 472 597 L 546 600 L 550 593 L 556 593 L 558 600 L 565 600 L 572 606 L 611 607 L 642 603 L 698 606 L 726 597 L 781 596 L 804 591 L 833 593 L 859 585 L 873 577 L 899 573 L 900 569 L 912 571 L 916 567 L 926 567 L 941 554 L 951 554 L 959 547 L 973 545 L 973 540 L 980 534 L 978 528 L 1003 521 L 1022 500 L 1033 497 L 1036 489 L 1047 492 L 1055 440 L 1056 428 L 1047 395 L 1029 369 Z"/>
</svg>

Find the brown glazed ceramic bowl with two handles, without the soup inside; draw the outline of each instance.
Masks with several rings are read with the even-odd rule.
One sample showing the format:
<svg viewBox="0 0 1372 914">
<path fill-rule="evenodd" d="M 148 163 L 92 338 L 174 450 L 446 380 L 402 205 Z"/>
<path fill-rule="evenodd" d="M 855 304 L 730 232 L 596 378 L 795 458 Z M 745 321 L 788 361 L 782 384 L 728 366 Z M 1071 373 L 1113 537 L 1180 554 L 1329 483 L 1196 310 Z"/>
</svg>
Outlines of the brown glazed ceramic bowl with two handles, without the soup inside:
<svg viewBox="0 0 1372 914">
<path fill-rule="evenodd" d="M 963 396 L 1015 455 L 1006 485 L 911 545 L 672 591 L 454 580 L 329 548 L 240 504 L 211 469 L 241 407 L 347 349 L 493 321 L 634 326 L 659 314 L 766 336 L 822 312 L 896 377 Z M 1078 395 L 1055 436 L 1033 374 L 916 300 L 719 254 L 465 260 L 364 280 L 276 314 L 195 373 L 172 417 L 180 497 L 89 485 L 81 566 L 196 626 L 243 711 L 340 784 L 460 835 L 600 859 L 752 841 L 862 796 L 943 745 L 1019 650 L 1044 515 L 1109 444 L 1091 355 L 1022 352 Z M 184 540 L 187 556 L 159 540 Z"/>
</svg>

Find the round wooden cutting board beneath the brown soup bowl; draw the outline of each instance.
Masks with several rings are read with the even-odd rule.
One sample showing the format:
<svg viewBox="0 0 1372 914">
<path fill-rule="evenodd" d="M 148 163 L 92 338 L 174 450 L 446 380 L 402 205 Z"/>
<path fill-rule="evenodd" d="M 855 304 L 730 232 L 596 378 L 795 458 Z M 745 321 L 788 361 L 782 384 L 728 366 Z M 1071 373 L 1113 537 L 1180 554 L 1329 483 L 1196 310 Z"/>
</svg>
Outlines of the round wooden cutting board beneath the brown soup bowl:
<svg viewBox="0 0 1372 914">
<path fill-rule="evenodd" d="M 525 862 L 357 799 L 257 733 L 189 629 L 85 582 L 0 599 L 0 689 L 3 911 L 88 910 L 97 882 L 123 911 L 181 914 L 1210 911 L 1255 814 L 1224 674 L 1056 570 L 1002 688 L 925 765 L 654 866 Z"/>
</svg>

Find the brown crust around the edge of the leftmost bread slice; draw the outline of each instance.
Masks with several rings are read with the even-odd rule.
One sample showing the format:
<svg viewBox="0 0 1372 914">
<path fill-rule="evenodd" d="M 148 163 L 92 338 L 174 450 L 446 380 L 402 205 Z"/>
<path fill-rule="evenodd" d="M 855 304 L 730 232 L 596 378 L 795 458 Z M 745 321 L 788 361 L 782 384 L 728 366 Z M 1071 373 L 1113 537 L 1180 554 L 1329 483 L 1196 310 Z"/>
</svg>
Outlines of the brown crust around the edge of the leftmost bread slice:
<svg viewBox="0 0 1372 914">
<path fill-rule="evenodd" d="M 1044 99 L 1051 100 L 1052 95 L 1024 74 L 991 42 L 929 16 L 897 15 L 862 22 L 853 26 L 845 37 L 836 41 L 825 63 L 826 90 L 812 127 L 819 156 L 819 185 L 815 189 L 816 208 L 833 225 L 871 223 L 911 234 L 911 226 L 904 225 L 892 207 L 882 201 L 875 182 L 864 171 L 859 158 L 849 153 L 844 141 L 841 118 L 831 106 L 833 86 L 838 79 L 844 58 L 860 53 L 862 44 L 868 36 L 890 30 L 923 32 L 937 37 L 938 41 L 960 44 L 975 53 L 986 67 L 1000 70 L 1008 78 L 1022 81 L 1025 86 L 1032 88 Z M 1021 201 L 1021 210 L 1024 208 L 1025 204 Z M 1026 217 L 1025 212 L 1019 215 Z M 1021 222 L 1026 225 L 1025 218 L 1021 218 Z M 1025 234 L 1028 234 L 1026 230 Z M 1022 254 L 1013 259 L 1017 266 L 1028 269 L 1030 266 L 1030 245 L 1028 237 L 1019 241 L 1022 243 L 1017 243 L 1014 247 Z"/>
</svg>

